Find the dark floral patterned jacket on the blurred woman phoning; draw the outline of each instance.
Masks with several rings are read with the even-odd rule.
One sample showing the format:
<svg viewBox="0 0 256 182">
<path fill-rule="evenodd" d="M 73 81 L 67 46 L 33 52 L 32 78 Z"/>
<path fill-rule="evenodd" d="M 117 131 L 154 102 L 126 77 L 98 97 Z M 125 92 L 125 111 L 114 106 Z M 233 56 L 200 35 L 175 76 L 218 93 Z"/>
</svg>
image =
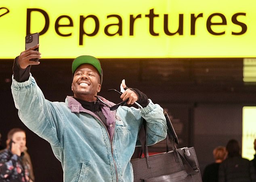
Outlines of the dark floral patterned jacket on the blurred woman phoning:
<svg viewBox="0 0 256 182">
<path fill-rule="evenodd" d="M 0 182 L 29 182 L 29 164 L 9 149 L 0 152 Z"/>
</svg>

